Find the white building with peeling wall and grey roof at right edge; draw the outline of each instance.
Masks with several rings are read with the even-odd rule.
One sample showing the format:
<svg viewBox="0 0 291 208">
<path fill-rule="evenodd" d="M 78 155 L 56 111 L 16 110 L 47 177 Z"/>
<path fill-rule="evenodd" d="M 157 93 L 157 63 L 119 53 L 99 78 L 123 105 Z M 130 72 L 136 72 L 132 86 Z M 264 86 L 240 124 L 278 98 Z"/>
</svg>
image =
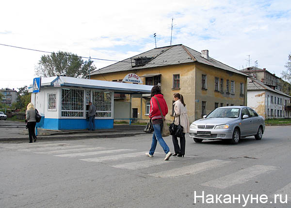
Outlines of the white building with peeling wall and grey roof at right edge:
<svg viewBox="0 0 291 208">
<path fill-rule="evenodd" d="M 290 118 L 291 96 L 264 84 L 260 80 L 248 78 L 247 106 L 253 108 L 265 119 Z"/>
</svg>

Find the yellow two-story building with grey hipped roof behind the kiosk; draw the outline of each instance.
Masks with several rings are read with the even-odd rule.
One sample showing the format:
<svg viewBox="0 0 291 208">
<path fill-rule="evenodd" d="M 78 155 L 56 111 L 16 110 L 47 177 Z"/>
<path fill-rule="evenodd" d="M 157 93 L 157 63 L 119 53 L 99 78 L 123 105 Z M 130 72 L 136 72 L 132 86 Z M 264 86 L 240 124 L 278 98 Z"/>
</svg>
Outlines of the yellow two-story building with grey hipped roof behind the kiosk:
<svg viewBox="0 0 291 208">
<path fill-rule="evenodd" d="M 168 122 L 173 119 L 173 94 L 183 95 L 190 122 L 221 106 L 247 104 L 248 75 L 183 45 L 154 48 L 91 73 L 91 79 L 122 81 L 129 73 L 143 84 L 159 84 L 167 102 Z M 132 100 L 132 117 L 148 119 L 150 94 L 140 98 L 114 96 L 115 101 Z M 118 100 L 116 99 L 118 97 Z"/>
</svg>

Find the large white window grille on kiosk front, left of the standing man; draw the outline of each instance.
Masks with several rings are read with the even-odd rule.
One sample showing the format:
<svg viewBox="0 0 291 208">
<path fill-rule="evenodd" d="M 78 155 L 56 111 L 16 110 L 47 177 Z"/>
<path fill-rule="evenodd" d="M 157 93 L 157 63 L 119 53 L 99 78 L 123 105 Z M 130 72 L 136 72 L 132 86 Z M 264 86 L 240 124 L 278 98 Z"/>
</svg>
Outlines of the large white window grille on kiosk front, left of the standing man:
<svg viewBox="0 0 291 208">
<path fill-rule="evenodd" d="M 83 117 L 84 90 L 62 89 L 62 117 Z"/>
</svg>

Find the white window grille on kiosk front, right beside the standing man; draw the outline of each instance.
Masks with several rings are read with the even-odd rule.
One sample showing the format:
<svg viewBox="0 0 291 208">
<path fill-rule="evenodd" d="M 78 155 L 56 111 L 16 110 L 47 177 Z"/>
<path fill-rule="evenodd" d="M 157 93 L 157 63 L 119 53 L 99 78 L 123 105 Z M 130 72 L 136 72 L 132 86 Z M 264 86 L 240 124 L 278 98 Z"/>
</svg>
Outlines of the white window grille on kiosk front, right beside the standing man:
<svg viewBox="0 0 291 208">
<path fill-rule="evenodd" d="M 96 107 L 96 117 L 112 117 L 112 92 L 93 91 L 92 103 Z"/>
</svg>

